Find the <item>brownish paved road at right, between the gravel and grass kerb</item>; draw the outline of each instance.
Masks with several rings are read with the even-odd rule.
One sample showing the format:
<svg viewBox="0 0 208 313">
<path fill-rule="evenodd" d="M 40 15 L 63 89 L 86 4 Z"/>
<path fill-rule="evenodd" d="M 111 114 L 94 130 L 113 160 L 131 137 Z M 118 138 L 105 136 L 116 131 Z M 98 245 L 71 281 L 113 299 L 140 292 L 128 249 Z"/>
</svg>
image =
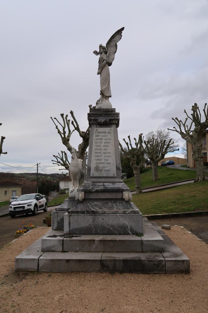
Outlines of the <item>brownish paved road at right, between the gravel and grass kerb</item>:
<svg viewBox="0 0 208 313">
<path fill-rule="evenodd" d="M 208 216 L 151 219 L 150 222 L 156 222 L 159 226 L 162 224 L 183 226 L 208 244 Z"/>
</svg>

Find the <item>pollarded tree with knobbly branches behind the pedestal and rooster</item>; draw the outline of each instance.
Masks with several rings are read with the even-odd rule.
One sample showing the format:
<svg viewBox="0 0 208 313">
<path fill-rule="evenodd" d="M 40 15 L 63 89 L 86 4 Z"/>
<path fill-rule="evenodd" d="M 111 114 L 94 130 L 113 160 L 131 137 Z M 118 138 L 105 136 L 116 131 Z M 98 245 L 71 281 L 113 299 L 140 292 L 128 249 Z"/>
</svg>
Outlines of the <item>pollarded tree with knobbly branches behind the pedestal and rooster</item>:
<svg viewBox="0 0 208 313">
<path fill-rule="evenodd" d="M 91 111 L 91 107 L 92 105 L 89 105 L 89 112 Z M 82 138 L 82 142 L 78 146 L 77 158 L 82 159 L 84 161 L 85 153 L 89 146 L 90 127 L 88 127 L 86 131 L 81 131 L 80 126 L 75 118 L 74 112 L 70 111 L 70 114 L 73 119 L 71 121 L 71 124 L 74 126 L 74 129 L 72 131 L 70 129 L 70 120 L 68 119 L 67 114 L 65 115 L 65 117 L 64 117 L 64 113 L 60 114 L 62 118 L 62 122 L 58 121 L 56 117 L 54 118 L 51 117 L 51 120 L 56 126 L 56 130 L 58 131 L 58 134 L 61 137 L 62 143 L 65 145 L 67 150 L 70 151 L 70 153 L 72 152 L 72 146 L 70 144 L 71 135 L 75 130 L 79 133 L 80 137 Z M 54 120 L 57 121 L 57 124 Z M 58 124 L 62 127 L 62 130 L 61 128 L 59 128 L 60 126 L 58 126 Z M 66 129 L 67 129 L 67 134 L 66 134 Z M 66 170 L 69 170 L 70 163 L 68 161 L 68 157 L 65 151 L 61 151 L 61 154 L 58 153 L 58 156 L 55 156 L 55 155 L 53 156 L 56 158 L 56 160 L 52 160 L 53 162 L 55 162 L 53 164 L 63 166 L 65 167 Z"/>
</svg>

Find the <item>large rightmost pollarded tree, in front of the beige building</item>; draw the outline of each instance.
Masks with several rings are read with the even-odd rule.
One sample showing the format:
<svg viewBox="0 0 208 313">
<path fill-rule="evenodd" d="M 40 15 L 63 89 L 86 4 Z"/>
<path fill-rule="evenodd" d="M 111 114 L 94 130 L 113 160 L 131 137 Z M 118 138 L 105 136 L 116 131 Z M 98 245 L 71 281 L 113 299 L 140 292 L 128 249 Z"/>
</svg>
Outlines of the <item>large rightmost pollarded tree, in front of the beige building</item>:
<svg viewBox="0 0 208 313">
<path fill-rule="evenodd" d="M 201 112 L 197 103 L 192 105 L 191 117 L 186 113 L 186 119 L 184 122 L 179 120 L 177 117 L 173 118 L 172 120 L 177 124 L 178 129 L 173 127 L 174 129 L 169 129 L 170 131 L 176 131 L 178 134 L 181 135 L 183 139 L 188 141 L 192 144 L 193 147 L 193 157 L 196 163 L 196 181 L 200 182 L 206 179 L 205 170 L 204 170 L 204 163 L 203 163 L 203 156 L 202 156 L 202 137 L 208 127 L 208 106 L 205 103 L 203 112 L 205 115 L 205 121 L 201 121 Z M 191 120 L 190 126 L 186 125 L 187 120 Z M 191 129 L 193 126 L 193 129 Z"/>
</svg>

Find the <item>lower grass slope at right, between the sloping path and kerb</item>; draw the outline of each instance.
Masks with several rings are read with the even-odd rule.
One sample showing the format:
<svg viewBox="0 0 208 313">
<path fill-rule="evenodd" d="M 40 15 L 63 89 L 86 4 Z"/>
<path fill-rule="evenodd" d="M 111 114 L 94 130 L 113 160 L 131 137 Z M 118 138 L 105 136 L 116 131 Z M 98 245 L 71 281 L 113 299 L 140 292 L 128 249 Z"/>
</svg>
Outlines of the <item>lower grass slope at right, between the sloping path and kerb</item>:
<svg viewBox="0 0 208 313">
<path fill-rule="evenodd" d="M 207 190 L 208 181 L 194 182 L 157 192 L 133 195 L 133 202 L 143 214 L 206 211 Z"/>
</svg>

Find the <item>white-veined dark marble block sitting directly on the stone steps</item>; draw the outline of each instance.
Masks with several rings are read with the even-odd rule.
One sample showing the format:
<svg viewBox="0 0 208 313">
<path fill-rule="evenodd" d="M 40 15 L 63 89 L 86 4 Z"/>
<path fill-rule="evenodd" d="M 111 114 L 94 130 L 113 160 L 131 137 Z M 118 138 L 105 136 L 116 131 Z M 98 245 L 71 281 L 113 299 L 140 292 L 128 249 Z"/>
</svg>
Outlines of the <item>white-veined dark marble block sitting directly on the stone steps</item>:
<svg viewBox="0 0 208 313">
<path fill-rule="evenodd" d="M 142 213 L 134 203 L 123 199 L 66 199 L 52 212 L 52 229 L 73 234 L 142 233 Z"/>
</svg>

